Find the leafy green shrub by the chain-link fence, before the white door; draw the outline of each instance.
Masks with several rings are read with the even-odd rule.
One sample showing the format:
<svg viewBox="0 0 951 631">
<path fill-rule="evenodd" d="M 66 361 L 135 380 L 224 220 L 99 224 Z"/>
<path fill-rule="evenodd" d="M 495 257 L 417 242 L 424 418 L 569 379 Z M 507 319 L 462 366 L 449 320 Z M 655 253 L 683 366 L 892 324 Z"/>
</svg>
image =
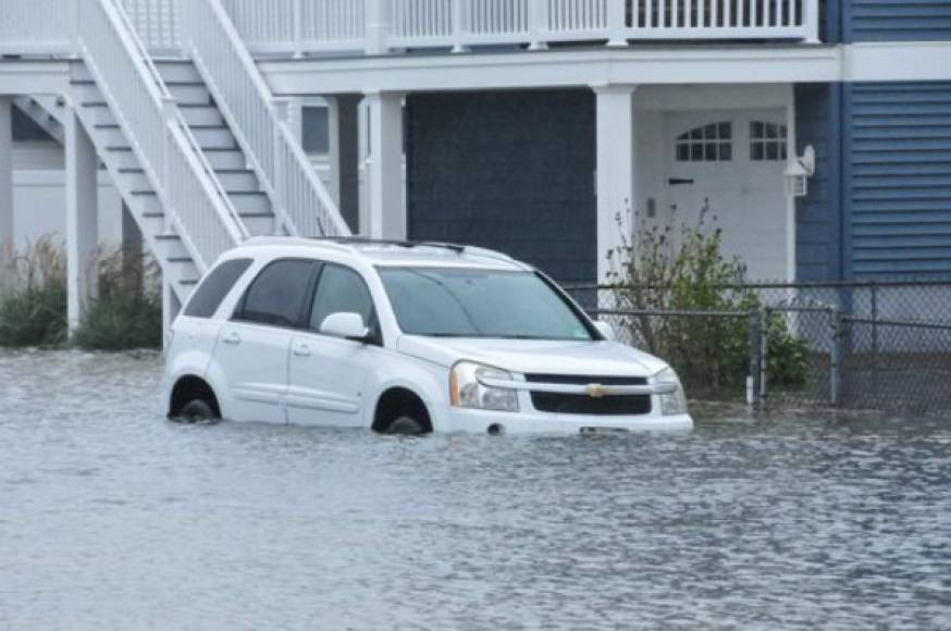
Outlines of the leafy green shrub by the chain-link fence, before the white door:
<svg viewBox="0 0 951 631">
<path fill-rule="evenodd" d="M 750 368 L 750 317 L 762 309 L 756 294 L 742 287 L 746 270 L 722 253 L 722 231 L 714 227 L 708 203 L 695 225 L 638 230 L 639 218 L 618 215 L 621 245 L 608 253 L 612 288 L 620 310 L 719 311 L 737 317 L 634 314 L 621 319 L 628 335 L 677 369 L 700 396 L 730 397 L 744 391 Z M 627 221 L 626 221 L 627 220 Z M 795 338 L 780 314 L 766 323 L 767 380 L 801 387 L 808 371 L 808 346 Z"/>
</svg>

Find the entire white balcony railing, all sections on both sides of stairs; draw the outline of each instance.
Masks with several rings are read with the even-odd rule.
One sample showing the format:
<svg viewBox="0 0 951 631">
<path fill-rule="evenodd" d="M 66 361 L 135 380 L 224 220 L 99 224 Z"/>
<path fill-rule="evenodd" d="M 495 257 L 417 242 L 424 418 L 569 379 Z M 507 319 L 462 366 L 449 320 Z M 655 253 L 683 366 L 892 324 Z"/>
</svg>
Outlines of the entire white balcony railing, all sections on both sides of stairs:
<svg viewBox="0 0 951 631">
<path fill-rule="evenodd" d="M 149 50 L 176 52 L 195 0 L 121 0 Z M 87 0 L 0 0 L 0 52 L 69 53 Z M 650 40 L 818 41 L 819 0 L 221 0 L 254 54 Z"/>
</svg>

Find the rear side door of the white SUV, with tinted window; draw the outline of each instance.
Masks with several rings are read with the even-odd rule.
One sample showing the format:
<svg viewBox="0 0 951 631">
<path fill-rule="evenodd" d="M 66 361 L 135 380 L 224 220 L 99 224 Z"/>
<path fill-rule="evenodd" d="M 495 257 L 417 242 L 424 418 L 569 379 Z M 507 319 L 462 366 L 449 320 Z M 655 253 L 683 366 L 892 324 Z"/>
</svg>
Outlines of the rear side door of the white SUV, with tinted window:
<svg viewBox="0 0 951 631">
<path fill-rule="evenodd" d="M 282 259 L 251 282 L 221 327 L 215 360 L 227 383 L 227 415 L 236 421 L 287 422 L 287 358 L 305 320 L 318 265 Z"/>
</svg>

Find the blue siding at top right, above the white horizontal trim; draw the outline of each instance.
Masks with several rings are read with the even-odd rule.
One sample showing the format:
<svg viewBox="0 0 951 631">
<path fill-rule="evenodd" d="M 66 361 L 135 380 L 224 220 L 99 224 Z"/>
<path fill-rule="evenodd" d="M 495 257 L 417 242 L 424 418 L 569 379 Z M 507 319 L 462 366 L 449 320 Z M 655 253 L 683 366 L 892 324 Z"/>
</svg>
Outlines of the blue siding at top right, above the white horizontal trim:
<svg viewBox="0 0 951 631">
<path fill-rule="evenodd" d="M 949 0 L 845 0 L 845 41 L 951 40 Z"/>
</svg>

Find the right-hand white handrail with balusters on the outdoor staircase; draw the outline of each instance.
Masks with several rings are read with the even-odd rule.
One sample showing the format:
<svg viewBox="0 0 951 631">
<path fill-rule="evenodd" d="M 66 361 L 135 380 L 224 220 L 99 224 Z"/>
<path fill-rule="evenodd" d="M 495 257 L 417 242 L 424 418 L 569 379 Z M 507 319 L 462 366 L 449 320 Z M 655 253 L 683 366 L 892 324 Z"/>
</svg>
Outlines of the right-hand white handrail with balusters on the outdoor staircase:
<svg viewBox="0 0 951 631">
<path fill-rule="evenodd" d="M 349 235 L 219 0 L 183 0 L 183 42 L 292 235 Z"/>
</svg>

